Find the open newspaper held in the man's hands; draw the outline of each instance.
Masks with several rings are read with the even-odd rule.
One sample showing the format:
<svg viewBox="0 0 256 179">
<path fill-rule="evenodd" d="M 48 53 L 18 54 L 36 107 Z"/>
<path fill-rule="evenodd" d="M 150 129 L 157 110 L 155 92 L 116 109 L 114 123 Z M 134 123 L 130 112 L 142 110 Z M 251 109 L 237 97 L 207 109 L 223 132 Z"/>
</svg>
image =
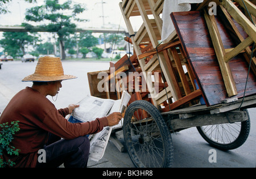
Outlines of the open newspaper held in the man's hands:
<svg viewBox="0 0 256 179">
<path fill-rule="evenodd" d="M 94 121 L 96 118 L 108 116 L 113 112 L 121 112 L 125 110 L 129 100 L 131 99 L 130 94 L 127 91 L 123 91 L 120 100 L 101 99 L 94 96 L 86 96 L 79 103 L 79 108 L 73 110 L 73 118 L 82 121 Z M 121 120 L 123 121 L 123 119 Z M 113 127 L 104 127 L 104 129 L 97 134 L 90 135 L 90 155 L 89 158 L 94 161 L 102 159 L 104 156 L 106 146 L 109 141 L 112 129 L 122 127 L 122 122 Z"/>
</svg>

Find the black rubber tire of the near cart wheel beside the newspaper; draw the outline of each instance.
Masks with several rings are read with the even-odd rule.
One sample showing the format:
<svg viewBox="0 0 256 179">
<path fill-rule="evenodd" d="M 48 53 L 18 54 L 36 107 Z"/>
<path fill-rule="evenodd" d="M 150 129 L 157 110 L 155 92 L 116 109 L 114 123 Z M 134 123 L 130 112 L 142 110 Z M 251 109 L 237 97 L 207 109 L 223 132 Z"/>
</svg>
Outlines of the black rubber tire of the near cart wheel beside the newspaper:
<svg viewBox="0 0 256 179">
<path fill-rule="evenodd" d="M 133 113 L 135 109 L 146 110 L 146 112 L 152 116 L 156 125 L 160 129 L 160 135 L 162 137 L 164 152 L 163 152 L 163 162 L 162 162 L 162 165 L 159 167 L 161 168 L 172 167 L 174 147 L 172 144 L 171 133 L 168 130 L 168 127 L 166 126 L 166 123 L 164 122 L 159 110 L 154 105 L 144 100 L 138 100 L 131 103 L 126 110 L 125 117 L 124 117 L 123 135 L 125 139 L 125 146 L 127 148 L 127 151 L 129 152 L 131 161 L 133 161 L 133 164 L 135 165 L 135 167 L 138 167 L 138 168 L 148 167 L 147 163 L 142 163 L 142 161 L 139 159 L 136 151 L 134 150 L 133 143 L 130 142 L 131 141 L 130 133 L 131 133 L 131 130 L 133 129 L 130 128 L 129 124 L 131 124 L 131 118 L 133 117 Z"/>
</svg>

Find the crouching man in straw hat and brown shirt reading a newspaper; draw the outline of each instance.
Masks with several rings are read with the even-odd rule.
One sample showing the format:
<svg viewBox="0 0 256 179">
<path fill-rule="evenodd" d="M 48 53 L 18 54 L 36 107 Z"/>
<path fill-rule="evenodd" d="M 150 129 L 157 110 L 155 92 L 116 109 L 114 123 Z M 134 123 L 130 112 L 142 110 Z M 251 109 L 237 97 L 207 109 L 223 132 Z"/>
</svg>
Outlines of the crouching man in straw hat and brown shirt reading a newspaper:
<svg viewBox="0 0 256 179">
<path fill-rule="evenodd" d="M 1 124 L 19 121 L 20 128 L 10 143 L 20 150 L 19 155 L 4 151 L 3 161 L 13 161 L 13 167 L 58 167 L 63 163 L 64 167 L 87 166 L 90 142 L 86 135 L 117 125 L 122 116 L 115 112 L 90 122 L 68 122 L 65 116 L 79 105 L 57 110 L 46 96 L 56 96 L 62 80 L 74 78 L 64 75 L 60 58 L 39 58 L 35 73 L 22 80 L 33 82 L 32 87 L 18 92 L 1 114 Z"/>
</svg>

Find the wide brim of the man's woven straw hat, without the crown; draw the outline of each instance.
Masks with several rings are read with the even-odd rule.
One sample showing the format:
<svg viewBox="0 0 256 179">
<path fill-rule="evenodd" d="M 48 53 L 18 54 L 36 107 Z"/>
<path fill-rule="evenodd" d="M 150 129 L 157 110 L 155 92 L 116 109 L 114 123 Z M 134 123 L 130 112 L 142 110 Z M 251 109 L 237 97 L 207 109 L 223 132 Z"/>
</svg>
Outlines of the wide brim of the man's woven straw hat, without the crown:
<svg viewBox="0 0 256 179">
<path fill-rule="evenodd" d="M 59 80 L 76 79 L 73 75 L 62 75 L 62 76 L 42 76 L 37 74 L 32 74 L 25 77 L 22 82 L 53 82 Z"/>
</svg>

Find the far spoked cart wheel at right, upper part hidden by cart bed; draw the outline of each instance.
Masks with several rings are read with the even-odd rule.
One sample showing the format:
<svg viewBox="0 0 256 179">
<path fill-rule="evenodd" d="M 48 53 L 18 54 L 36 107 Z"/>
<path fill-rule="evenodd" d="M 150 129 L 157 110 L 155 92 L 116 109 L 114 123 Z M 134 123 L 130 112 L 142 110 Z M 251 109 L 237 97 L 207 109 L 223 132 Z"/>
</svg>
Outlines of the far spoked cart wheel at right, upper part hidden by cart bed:
<svg viewBox="0 0 256 179">
<path fill-rule="evenodd" d="M 213 147 L 220 150 L 233 150 L 245 143 L 250 133 L 250 116 L 243 122 L 222 123 L 197 127 L 201 136 Z"/>
</svg>

